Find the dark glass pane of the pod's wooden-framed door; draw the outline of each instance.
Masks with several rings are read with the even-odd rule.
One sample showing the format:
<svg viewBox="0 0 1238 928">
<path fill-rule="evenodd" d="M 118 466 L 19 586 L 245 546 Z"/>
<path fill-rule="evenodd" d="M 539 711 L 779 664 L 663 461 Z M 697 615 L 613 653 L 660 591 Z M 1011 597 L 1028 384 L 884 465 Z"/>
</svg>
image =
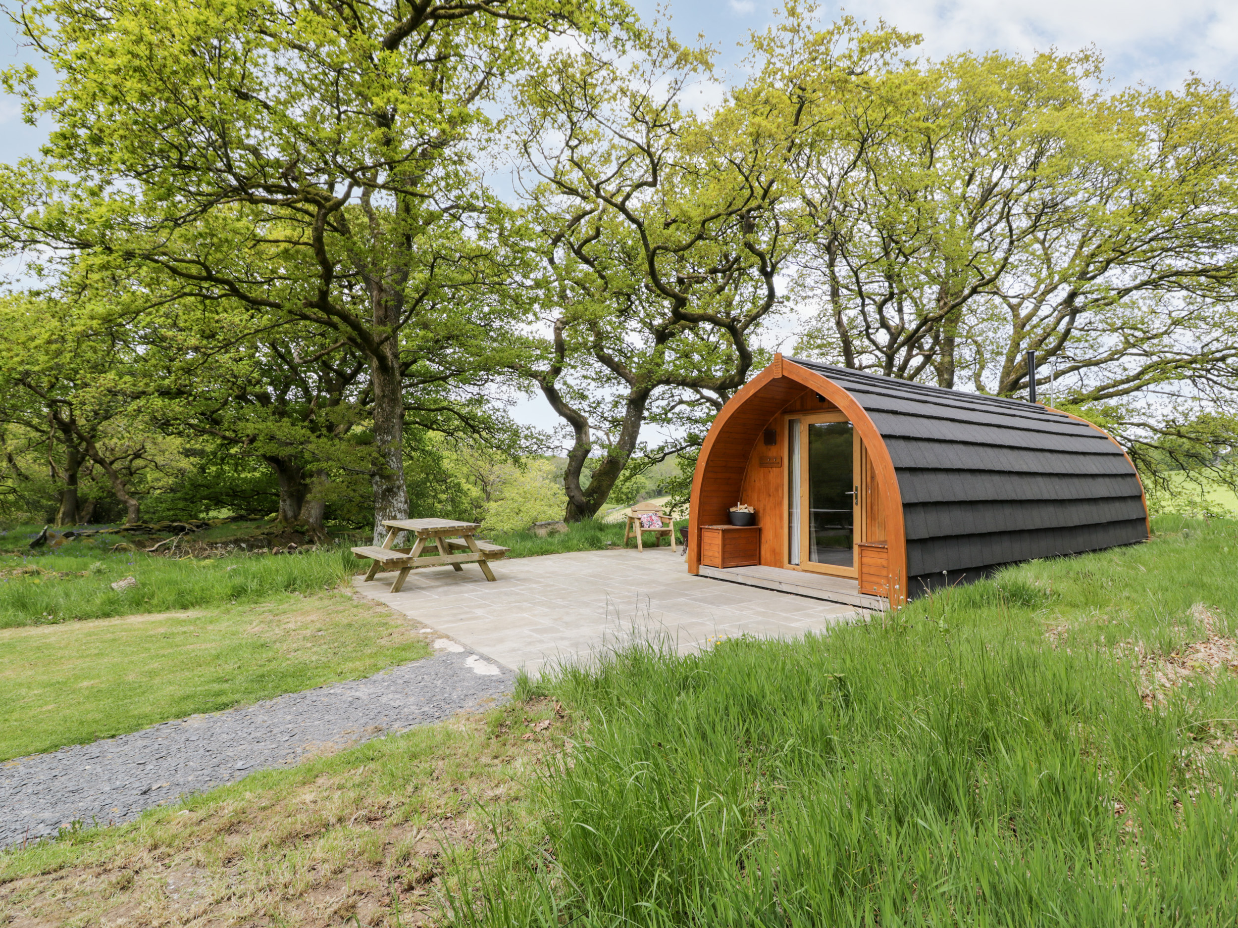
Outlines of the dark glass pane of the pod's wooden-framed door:
<svg viewBox="0 0 1238 928">
<path fill-rule="evenodd" d="M 807 559 L 853 568 L 855 483 L 851 422 L 810 422 L 807 428 Z"/>
</svg>

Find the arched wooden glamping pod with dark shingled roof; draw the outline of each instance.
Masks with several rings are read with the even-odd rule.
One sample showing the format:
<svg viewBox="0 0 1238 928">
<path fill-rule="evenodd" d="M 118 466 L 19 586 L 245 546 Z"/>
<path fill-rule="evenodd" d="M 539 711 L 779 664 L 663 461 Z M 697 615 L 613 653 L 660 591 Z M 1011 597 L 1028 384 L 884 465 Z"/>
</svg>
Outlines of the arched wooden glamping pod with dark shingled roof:
<svg viewBox="0 0 1238 928">
<path fill-rule="evenodd" d="M 730 509 L 751 506 L 751 516 Z M 901 605 L 1019 561 L 1148 538 L 1129 458 L 1021 400 L 784 359 L 723 407 L 692 480 L 688 570 Z"/>
</svg>

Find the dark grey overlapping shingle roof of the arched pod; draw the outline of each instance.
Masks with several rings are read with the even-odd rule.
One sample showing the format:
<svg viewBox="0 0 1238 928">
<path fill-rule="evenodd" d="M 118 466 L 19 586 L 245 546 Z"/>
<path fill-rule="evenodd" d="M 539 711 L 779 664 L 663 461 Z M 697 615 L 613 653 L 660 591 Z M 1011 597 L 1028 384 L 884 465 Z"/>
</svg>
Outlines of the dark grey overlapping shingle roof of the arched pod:
<svg viewBox="0 0 1238 928">
<path fill-rule="evenodd" d="M 903 495 L 910 594 L 943 575 L 1148 537 L 1134 468 L 1084 422 L 1021 400 L 787 360 L 843 387 L 885 439 Z"/>
</svg>

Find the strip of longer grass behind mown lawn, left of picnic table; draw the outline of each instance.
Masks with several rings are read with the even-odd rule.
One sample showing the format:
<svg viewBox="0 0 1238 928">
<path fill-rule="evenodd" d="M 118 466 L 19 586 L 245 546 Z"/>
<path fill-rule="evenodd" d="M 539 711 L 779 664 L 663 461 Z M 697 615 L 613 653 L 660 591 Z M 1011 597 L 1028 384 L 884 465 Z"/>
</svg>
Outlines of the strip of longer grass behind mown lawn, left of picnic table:
<svg viewBox="0 0 1238 928">
<path fill-rule="evenodd" d="M 31 568 L 38 573 L 20 573 Z M 255 603 L 280 593 L 333 589 L 357 569 L 347 549 L 172 559 L 71 543 L 56 552 L 0 556 L 0 629 Z M 137 585 L 111 589 L 126 577 Z"/>
</svg>

